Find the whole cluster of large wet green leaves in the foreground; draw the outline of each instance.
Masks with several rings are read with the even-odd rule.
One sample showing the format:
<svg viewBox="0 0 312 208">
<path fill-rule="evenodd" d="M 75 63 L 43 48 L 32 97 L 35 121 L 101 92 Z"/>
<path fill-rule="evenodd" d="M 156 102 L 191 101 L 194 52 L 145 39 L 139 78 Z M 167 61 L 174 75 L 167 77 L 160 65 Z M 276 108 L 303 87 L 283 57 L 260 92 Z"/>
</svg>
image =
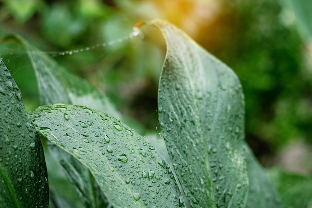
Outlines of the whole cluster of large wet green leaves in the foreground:
<svg viewBox="0 0 312 208">
<path fill-rule="evenodd" d="M 100 91 L 20 36 L 3 38 L 25 48 L 42 106 L 26 112 L 1 61 L 0 207 L 47 207 L 49 199 L 53 208 L 280 207 L 244 142 L 244 97 L 236 75 L 175 26 L 147 24 L 159 28 L 167 43 L 158 91 L 158 139 L 166 142 L 167 160 L 122 122 Z M 47 165 L 51 154 L 67 176 L 55 181 L 70 182 L 77 196 L 51 183 L 55 170 L 48 172 L 48 188 L 36 131 L 48 140 Z M 78 198 L 81 203 L 73 205 Z M 302 207 L 309 202 L 308 195 Z"/>
</svg>

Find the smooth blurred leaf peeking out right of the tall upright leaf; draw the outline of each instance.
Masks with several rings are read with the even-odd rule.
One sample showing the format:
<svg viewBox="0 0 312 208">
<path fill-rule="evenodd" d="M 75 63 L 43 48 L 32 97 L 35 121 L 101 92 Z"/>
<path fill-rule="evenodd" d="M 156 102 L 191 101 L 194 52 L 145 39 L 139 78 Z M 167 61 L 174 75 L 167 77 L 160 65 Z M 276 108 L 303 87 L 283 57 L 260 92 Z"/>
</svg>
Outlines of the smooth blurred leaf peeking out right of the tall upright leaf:
<svg viewBox="0 0 312 208">
<path fill-rule="evenodd" d="M 246 208 L 280 208 L 272 181 L 246 145 L 249 190 Z"/>
</svg>

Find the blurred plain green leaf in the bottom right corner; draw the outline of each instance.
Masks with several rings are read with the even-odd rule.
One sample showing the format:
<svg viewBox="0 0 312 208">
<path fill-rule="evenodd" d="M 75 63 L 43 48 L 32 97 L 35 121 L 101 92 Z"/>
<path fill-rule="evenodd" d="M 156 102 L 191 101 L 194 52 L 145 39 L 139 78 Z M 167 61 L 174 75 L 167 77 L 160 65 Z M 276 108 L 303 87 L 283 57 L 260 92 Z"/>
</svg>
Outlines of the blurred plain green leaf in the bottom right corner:
<svg viewBox="0 0 312 208">
<path fill-rule="evenodd" d="M 268 171 L 281 199 L 282 208 L 312 208 L 312 177 L 280 169 Z"/>
</svg>

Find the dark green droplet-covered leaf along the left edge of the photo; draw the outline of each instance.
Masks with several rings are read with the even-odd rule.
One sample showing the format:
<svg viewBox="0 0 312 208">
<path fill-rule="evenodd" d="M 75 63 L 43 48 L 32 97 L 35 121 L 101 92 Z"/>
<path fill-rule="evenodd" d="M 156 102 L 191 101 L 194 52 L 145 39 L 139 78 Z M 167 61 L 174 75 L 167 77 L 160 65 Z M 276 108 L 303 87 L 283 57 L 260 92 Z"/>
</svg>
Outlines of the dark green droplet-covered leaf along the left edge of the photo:
<svg viewBox="0 0 312 208">
<path fill-rule="evenodd" d="M 0 207 L 47 208 L 42 144 L 21 93 L 0 58 Z"/>
</svg>

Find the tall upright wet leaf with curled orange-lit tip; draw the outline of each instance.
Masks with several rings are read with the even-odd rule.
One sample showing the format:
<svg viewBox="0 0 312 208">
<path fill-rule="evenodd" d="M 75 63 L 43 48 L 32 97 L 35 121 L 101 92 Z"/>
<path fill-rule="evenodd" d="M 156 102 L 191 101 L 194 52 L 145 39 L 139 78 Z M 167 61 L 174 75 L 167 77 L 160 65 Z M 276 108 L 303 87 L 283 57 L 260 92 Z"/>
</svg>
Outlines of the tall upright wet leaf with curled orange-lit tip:
<svg viewBox="0 0 312 208">
<path fill-rule="evenodd" d="M 245 208 L 244 99 L 234 72 L 162 20 L 167 43 L 158 92 L 171 161 L 193 208 Z"/>
</svg>

